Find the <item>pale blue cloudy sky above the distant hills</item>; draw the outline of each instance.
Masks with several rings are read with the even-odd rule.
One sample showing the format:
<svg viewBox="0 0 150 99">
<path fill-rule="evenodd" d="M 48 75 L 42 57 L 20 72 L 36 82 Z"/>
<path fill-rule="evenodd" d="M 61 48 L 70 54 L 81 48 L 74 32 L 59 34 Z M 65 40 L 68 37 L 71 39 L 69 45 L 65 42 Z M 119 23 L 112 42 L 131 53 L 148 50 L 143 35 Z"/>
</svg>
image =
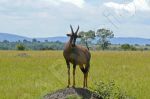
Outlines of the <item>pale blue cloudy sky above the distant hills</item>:
<svg viewBox="0 0 150 99">
<path fill-rule="evenodd" d="M 107 28 L 115 37 L 150 38 L 150 0 L 0 0 L 0 32 L 65 36 Z"/>
</svg>

